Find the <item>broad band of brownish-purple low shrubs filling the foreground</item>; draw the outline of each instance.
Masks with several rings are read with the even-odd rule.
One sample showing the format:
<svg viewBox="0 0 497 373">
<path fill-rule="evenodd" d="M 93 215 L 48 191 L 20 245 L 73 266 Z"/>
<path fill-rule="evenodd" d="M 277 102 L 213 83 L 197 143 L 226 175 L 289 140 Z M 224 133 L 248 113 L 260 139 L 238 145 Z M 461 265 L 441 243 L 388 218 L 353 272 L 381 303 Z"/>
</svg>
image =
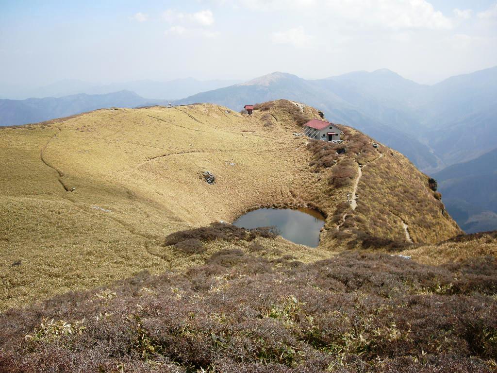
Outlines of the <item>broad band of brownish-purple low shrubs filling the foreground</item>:
<svg viewBox="0 0 497 373">
<path fill-rule="evenodd" d="M 227 249 L 186 274 L 140 274 L 112 296 L 5 312 L 0 372 L 485 373 L 496 292 L 493 257 L 433 267 L 345 252 L 303 264 Z M 47 317 L 78 332 L 25 337 L 43 337 Z"/>
</svg>

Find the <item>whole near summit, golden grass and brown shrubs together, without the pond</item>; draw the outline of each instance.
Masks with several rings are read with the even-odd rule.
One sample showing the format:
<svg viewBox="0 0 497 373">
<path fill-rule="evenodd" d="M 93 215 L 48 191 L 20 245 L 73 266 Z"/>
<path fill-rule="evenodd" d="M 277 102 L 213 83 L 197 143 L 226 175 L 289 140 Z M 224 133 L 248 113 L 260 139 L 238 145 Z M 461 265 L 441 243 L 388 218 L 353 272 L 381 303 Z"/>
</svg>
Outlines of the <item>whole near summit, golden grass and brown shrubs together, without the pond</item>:
<svg viewBox="0 0 497 373">
<path fill-rule="evenodd" d="M 451 240 L 426 175 L 353 128 L 341 144 L 293 134 L 313 117 L 279 100 L 251 117 L 195 104 L 0 130 L 0 308 L 16 307 L 0 366 L 491 367 L 495 234 Z M 319 209 L 320 245 L 217 223 L 258 206 Z"/>
</svg>

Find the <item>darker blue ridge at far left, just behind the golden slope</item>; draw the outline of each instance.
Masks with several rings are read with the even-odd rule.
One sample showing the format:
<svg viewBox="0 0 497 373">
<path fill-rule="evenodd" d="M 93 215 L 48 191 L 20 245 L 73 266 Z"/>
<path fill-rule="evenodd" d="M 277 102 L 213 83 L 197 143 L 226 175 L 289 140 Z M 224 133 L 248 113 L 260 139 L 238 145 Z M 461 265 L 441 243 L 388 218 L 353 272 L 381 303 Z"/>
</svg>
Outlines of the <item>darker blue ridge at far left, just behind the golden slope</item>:
<svg viewBox="0 0 497 373">
<path fill-rule="evenodd" d="M 166 104 L 160 100 L 143 98 L 130 91 L 105 94 L 73 94 L 63 97 L 0 99 L 0 127 L 37 123 L 107 107 L 136 107 Z"/>
</svg>

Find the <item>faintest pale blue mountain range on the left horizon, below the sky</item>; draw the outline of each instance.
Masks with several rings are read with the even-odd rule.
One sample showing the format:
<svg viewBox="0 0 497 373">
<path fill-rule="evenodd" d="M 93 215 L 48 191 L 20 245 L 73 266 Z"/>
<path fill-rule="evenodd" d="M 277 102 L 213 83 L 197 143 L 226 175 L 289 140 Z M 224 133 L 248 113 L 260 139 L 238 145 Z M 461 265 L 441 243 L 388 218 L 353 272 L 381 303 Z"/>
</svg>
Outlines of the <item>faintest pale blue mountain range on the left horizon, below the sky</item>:
<svg viewBox="0 0 497 373">
<path fill-rule="evenodd" d="M 195 93 L 211 91 L 240 83 L 239 80 L 207 80 L 194 78 L 174 79 L 166 82 L 150 79 L 124 83 L 95 84 L 77 79 L 64 79 L 39 88 L 0 87 L 0 98 L 26 99 L 31 97 L 63 97 L 74 94 L 105 94 L 118 91 L 132 91 L 142 97 L 171 100 Z"/>
</svg>

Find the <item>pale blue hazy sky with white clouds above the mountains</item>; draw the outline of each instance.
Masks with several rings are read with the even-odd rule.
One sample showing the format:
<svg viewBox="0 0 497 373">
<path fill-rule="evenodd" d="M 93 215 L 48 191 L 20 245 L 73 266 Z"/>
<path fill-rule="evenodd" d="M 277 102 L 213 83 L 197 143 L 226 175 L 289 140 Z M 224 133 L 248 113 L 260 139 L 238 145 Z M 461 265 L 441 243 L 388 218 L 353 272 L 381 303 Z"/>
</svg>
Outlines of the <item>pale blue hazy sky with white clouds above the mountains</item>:
<svg viewBox="0 0 497 373">
<path fill-rule="evenodd" d="M 306 79 L 418 83 L 497 65 L 497 0 L 0 0 L 0 84 Z"/>
</svg>

